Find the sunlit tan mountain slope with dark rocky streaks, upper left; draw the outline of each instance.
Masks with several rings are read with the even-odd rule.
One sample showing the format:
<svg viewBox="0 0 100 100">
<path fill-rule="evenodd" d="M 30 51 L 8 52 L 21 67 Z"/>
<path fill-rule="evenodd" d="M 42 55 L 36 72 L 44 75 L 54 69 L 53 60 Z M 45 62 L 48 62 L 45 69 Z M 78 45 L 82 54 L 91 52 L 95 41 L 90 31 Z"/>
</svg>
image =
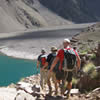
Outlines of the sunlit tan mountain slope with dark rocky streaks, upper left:
<svg viewBox="0 0 100 100">
<path fill-rule="evenodd" d="M 38 0 L 0 0 L 0 32 L 69 23 L 71 22 L 49 11 Z"/>
</svg>

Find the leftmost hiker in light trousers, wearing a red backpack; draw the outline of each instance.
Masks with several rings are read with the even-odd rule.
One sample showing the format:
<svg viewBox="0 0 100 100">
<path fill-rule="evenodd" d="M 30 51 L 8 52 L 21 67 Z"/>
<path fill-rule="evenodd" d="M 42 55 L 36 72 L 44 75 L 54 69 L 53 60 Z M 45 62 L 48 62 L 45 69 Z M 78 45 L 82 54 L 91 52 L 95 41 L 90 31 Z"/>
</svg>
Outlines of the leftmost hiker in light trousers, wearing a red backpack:
<svg viewBox="0 0 100 100">
<path fill-rule="evenodd" d="M 42 89 L 44 88 L 44 84 L 45 84 L 46 78 L 47 78 L 46 77 L 47 76 L 47 72 L 42 70 L 42 67 L 46 63 L 46 58 L 47 58 L 46 50 L 44 48 L 42 48 L 41 54 L 38 56 L 38 59 L 37 59 L 37 69 L 40 66 L 40 85 L 41 85 Z"/>
</svg>

